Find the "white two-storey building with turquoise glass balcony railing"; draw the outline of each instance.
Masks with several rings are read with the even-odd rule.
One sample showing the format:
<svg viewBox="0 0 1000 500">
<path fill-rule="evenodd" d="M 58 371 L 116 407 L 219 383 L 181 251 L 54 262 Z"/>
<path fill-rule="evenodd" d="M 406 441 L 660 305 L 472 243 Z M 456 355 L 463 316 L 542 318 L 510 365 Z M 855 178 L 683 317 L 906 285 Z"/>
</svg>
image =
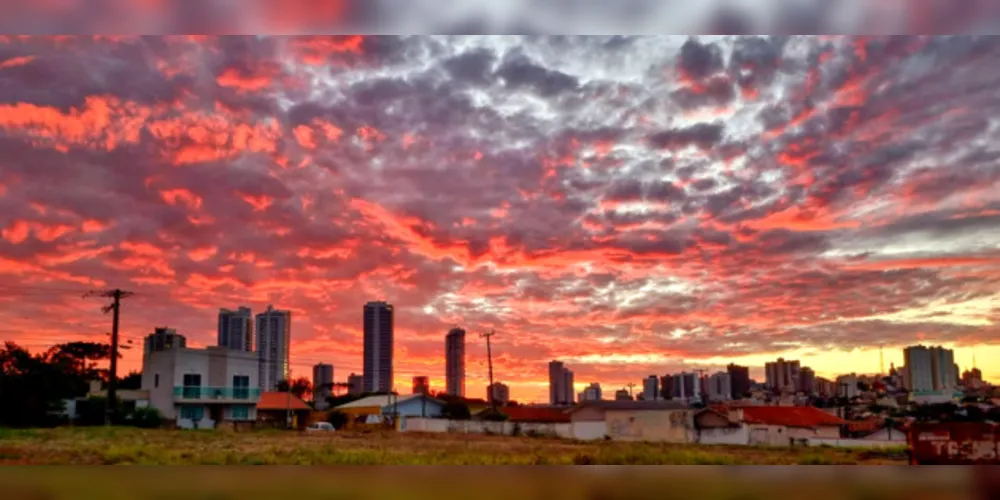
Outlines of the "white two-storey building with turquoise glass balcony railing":
<svg viewBox="0 0 1000 500">
<path fill-rule="evenodd" d="M 257 418 L 258 360 L 225 347 L 172 347 L 143 357 L 142 389 L 149 405 L 181 428 Z"/>
</svg>

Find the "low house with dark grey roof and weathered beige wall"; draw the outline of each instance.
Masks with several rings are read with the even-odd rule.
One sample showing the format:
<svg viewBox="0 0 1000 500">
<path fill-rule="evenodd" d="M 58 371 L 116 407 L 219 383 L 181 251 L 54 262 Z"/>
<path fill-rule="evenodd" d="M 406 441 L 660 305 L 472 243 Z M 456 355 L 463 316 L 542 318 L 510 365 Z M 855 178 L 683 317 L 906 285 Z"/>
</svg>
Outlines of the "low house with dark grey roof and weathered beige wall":
<svg viewBox="0 0 1000 500">
<path fill-rule="evenodd" d="M 575 439 L 689 442 L 692 410 L 683 401 L 585 401 L 567 414 Z"/>
</svg>

